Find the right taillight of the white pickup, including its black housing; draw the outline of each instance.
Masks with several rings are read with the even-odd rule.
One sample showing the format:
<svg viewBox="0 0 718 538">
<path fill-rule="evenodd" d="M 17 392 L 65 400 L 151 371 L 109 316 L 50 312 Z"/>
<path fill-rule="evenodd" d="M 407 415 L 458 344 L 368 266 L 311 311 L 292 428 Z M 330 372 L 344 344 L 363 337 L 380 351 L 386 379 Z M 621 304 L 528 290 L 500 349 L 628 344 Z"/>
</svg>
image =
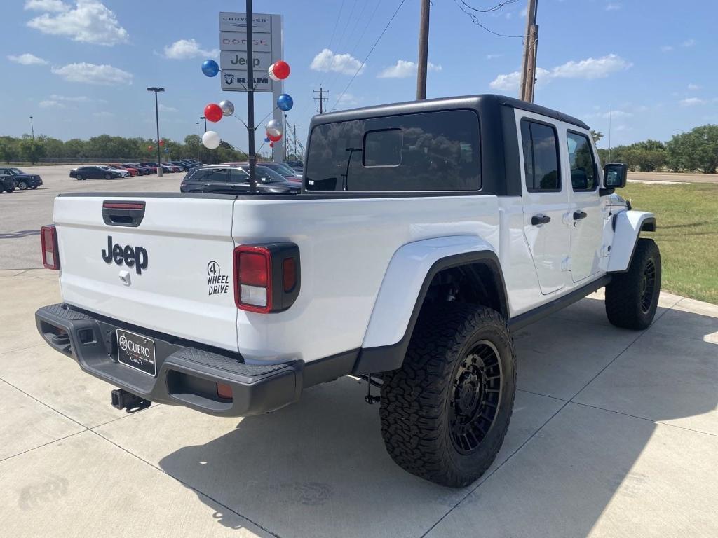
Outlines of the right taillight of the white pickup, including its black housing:
<svg viewBox="0 0 718 538">
<path fill-rule="evenodd" d="M 234 250 L 234 301 L 250 312 L 281 312 L 299 296 L 299 247 L 290 242 Z"/>
</svg>

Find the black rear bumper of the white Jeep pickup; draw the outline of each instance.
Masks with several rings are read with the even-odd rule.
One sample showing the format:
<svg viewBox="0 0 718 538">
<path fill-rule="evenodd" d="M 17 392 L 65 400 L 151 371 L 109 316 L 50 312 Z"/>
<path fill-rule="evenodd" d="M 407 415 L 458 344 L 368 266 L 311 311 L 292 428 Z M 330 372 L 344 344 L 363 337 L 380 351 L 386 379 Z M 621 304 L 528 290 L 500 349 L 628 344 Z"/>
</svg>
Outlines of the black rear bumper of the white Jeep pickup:
<svg viewBox="0 0 718 538">
<path fill-rule="evenodd" d="M 301 360 L 245 364 L 239 354 L 193 346 L 65 304 L 39 308 L 35 322 L 47 344 L 74 359 L 85 372 L 151 402 L 239 417 L 277 410 L 299 400 L 302 393 Z M 157 377 L 118 362 L 116 329 L 140 331 L 154 339 Z M 218 397 L 217 383 L 232 387 L 231 400 Z"/>
</svg>

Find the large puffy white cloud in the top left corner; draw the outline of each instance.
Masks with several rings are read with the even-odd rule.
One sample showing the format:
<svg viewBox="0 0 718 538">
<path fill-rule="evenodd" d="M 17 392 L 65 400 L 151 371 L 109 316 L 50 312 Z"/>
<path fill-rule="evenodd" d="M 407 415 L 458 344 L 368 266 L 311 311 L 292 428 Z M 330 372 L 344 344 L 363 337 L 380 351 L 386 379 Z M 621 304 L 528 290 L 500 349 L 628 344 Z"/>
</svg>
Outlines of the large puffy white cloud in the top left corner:
<svg viewBox="0 0 718 538">
<path fill-rule="evenodd" d="M 44 13 L 27 23 L 43 34 L 60 35 L 82 43 L 111 47 L 127 42 L 129 34 L 111 9 L 98 0 L 77 0 L 74 9 L 59 14 Z"/>
</svg>

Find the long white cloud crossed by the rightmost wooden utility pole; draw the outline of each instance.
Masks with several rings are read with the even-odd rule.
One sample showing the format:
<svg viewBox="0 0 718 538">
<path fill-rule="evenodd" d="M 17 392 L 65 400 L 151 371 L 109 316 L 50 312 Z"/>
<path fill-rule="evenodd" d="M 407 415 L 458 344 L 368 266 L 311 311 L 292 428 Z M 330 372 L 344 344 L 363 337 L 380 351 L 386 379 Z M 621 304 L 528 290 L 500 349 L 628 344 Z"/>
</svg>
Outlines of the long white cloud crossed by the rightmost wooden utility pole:
<svg viewBox="0 0 718 538">
<path fill-rule="evenodd" d="M 536 68 L 536 83 L 546 83 L 556 78 L 574 78 L 582 80 L 594 80 L 597 78 L 605 78 L 613 72 L 627 70 L 631 67 L 630 62 L 623 60 L 622 57 L 610 54 L 600 58 L 587 58 L 579 62 L 566 62 L 558 65 L 553 69 L 546 70 L 541 67 Z M 521 74 L 518 71 L 509 73 L 508 75 L 498 75 L 492 82 L 490 87 L 495 90 L 517 90 L 520 82 Z"/>
</svg>

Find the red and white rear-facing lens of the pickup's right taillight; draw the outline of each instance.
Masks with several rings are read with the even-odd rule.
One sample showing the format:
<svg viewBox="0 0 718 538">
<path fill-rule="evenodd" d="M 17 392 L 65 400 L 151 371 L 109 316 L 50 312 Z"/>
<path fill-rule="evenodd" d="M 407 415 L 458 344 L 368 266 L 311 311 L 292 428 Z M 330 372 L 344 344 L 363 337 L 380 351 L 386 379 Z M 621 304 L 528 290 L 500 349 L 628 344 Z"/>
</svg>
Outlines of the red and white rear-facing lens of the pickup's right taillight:
<svg viewBox="0 0 718 538">
<path fill-rule="evenodd" d="M 235 303 L 250 312 L 268 313 L 272 307 L 271 253 L 265 247 L 243 245 L 234 251 Z"/>
</svg>

